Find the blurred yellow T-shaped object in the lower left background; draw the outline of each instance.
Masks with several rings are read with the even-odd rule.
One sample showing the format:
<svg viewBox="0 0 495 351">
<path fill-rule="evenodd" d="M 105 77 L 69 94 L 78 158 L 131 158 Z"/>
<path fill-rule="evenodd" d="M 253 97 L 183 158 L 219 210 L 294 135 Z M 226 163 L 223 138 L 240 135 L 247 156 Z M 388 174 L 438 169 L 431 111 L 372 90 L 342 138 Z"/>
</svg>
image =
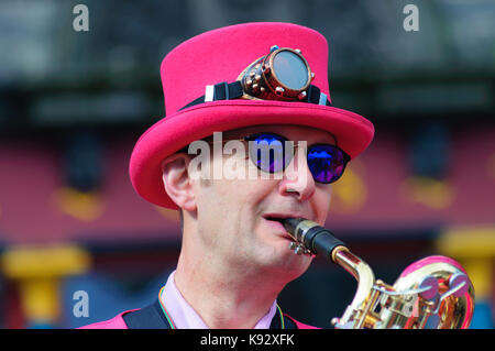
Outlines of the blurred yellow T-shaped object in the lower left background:
<svg viewBox="0 0 495 351">
<path fill-rule="evenodd" d="M 73 244 L 18 246 L 3 252 L 1 270 L 18 283 L 21 305 L 31 325 L 56 325 L 59 281 L 90 267 L 88 252 Z"/>
</svg>

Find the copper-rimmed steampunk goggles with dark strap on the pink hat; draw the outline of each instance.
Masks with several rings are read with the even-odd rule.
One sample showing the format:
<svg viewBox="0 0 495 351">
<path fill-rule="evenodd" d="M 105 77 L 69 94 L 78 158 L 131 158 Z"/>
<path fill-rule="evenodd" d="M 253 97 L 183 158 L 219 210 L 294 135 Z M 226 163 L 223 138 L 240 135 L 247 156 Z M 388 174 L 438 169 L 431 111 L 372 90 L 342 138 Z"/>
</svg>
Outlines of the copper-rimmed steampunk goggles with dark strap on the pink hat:
<svg viewBox="0 0 495 351">
<path fill-rule="evenodd" d="M 249 65 L 231 84 L 206 86 L 205 95 L 180 110 L 209 101 L 252 99 L 299 101 L 332 106 L 327 95 L 311 85 L 315 73 L 300 50 L 272 46 L 270 53 Z"/>
</svg>

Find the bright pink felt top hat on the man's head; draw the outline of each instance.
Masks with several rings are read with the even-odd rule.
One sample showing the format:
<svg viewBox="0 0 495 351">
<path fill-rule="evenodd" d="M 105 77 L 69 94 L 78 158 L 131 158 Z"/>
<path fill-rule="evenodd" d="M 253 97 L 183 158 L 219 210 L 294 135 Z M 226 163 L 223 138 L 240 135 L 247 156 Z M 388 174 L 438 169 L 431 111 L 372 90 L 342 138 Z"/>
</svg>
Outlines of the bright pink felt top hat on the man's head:
<svg viewBox="0 0 495 351">
<path fill-rule="evenodd" d="M 273 45 L 298 48 L 315 73 L 312 86 L 330 100 L 328 43 L 318 32 L 290 23 L 245 23 L 197 35 L 174 48 L 163 61 L 161 76 L 166 117 L 138 141 L 131 155 L 130 176 L 134 189 L 146 200 L 170 209 L 161 163 L 195 140 L 213 132 L 260 124 L 297 124 L 332 133 L 351 158 L 371 143 L 373 124 L 365 118 L 328 105 L 306 101 L 234 98 L 188 106 L 205 96 L 206 87 L 234 83 Z"/>
</svg>

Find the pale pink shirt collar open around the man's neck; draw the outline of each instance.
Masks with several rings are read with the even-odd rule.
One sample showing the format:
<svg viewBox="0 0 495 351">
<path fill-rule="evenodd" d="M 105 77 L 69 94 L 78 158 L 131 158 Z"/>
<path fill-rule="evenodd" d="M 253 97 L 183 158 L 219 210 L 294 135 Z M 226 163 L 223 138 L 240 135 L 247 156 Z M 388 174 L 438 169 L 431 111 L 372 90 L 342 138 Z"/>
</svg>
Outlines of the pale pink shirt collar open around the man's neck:
<svg viewBox="0 0 495 351">
<path fill-rule="evenodd" d="M 175 285 L 175 271 L 168 276 L 167 283 L 160 296 L 167 309 L 168 317 L 178 329 L 209 329 L 198 312 L 190 306 Z M 254 329 L 270 329 L 272 319 L 277 309 L 277 301 L 274 300 L 268 312 L 262 317 L 254 326 Z"/>
</svg>

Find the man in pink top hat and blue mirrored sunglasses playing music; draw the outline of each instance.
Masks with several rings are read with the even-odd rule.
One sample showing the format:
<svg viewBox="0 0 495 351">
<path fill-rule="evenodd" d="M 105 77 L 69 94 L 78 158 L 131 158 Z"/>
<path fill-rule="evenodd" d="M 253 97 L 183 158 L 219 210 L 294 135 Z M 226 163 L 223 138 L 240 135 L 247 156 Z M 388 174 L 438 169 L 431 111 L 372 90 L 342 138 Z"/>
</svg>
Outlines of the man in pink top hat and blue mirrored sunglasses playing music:
<svg viewBox="0 0 495 351">
<path fill-rule="evenodd" d="M 327 67 L 324 37 L 289 23 L 215 30 L 165 57 L 167 117 L 138 141 L 130 174 L 146 200 L 180 210 L 177 268 L 152 306 L 87 328 L 310 328 L 276 304 L 312 260 L 277 219 L 323 224 L 331 184 L 374 133 L 332 107 Z M 198 141 L 213 152 L 191 166 Z"/>
</svg>

